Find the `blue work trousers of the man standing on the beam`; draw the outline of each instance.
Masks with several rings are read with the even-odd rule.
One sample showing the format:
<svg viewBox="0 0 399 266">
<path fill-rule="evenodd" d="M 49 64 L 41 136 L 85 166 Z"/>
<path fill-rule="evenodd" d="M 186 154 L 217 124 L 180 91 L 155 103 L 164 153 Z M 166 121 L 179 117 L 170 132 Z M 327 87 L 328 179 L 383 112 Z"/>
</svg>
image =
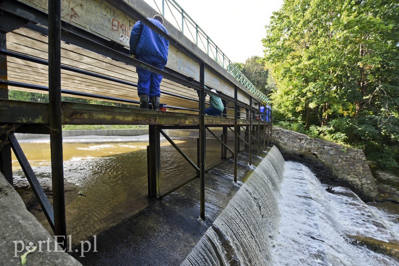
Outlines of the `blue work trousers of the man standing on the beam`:
<svg viewBox="0 0 399 266">
<path fill-rule="evenodd" d="M 159 59 L 154 56 L 140 55 L 137 59 L 161 70 L 163 70 L 165 66 L 165 64 L 160 63 Z M 141 67 L 137 67 L 136 71 L 139 75 L 139 81 L 137 82 L 138 95 L 147 94 L 150 96 L 150 99 L 154 96 L 161 96 L 159 85 L 162 81 L 162 75 Z"/>
</svg>

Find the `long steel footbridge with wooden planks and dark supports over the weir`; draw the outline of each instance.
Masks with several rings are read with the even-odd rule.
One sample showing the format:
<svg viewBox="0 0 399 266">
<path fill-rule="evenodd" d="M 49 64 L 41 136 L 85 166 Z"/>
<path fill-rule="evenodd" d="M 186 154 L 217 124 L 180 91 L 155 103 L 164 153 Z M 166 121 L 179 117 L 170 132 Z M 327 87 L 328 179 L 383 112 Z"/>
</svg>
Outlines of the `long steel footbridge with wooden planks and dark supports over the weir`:
<svg viewBox="0 0 399 266">
<path fill-rule="evenodd" d="M 205 131 L 222 143 L 222 158 L 234 158 L 235 166 L 240 140 L 251 154 L 254 142 L 259 152 L 270 137 L 271 123 L 255 119 L 260 117 L 260 105 L 268 99 L 248 87 L 247 81 L 239 82 L 234 77 L 232 63 L 218 53 L 217 46 L 216 55 L 210 57 L 209 46 L 207 52 L 203 51 L 168 20 L 164 25 L 169 36 L 149 22 L 146 17 L 152 17 L 156 10 L 142 0 L 2 0 L 0 9 L 1 172 L 12 184 L 12 148 L 56 235 L 66 236 L 62 125 L 150 125 L 149 196 L 166 196 L 159 195 L 162 134 L 198 172 L 194 178 L 201 180 L 202 219 L 205 218 Z M 138 20 L 170 41 L 168 64 L 163 71 L 129 56 L 129 35 Z M 199 34 L 198 38 L 204 35 Z M 164 76 L 161 103 L 167 104 L 168 112 L 61 101 L 62 95 L 137 105 L 136 66 Z M 219 92 L 226 107 L 223 117 L 204 115 L 205 93 L 213 94 L 210 89 Z M 48 102 L 8 100 L 9 90 L 48 94 Z M 222 128 L 220 139 L 211 127 Z M 198 163 L 181 152 L 164 129 L 199 130 Z M 228 129 L 234 134 L 234 148 L 226 144 Z M 245 132 L 243 136 L 241 130 Z M 50 134 L 53 206 L 44 195 L 14 132 Z M 231 157 L 227 156 L 227 150 Z M 185 184 L 177 184 L 175 190 Z"/>
</svg>

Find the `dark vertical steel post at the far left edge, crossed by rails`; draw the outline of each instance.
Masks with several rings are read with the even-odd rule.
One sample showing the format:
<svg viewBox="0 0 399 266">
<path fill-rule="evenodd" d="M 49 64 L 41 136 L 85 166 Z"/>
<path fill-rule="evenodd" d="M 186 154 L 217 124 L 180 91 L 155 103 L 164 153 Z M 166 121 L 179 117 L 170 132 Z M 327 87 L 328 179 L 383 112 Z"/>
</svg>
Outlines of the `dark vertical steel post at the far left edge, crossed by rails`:
<svg viewBox="0 0 399 266">
<path fill-rule="evenodd" d="M 6 33 L 0 31 L 0 50 L 6 50 L 7 40 Z M 0 55 L 0 79 L 7 80 L 7 56 Z M 0 99 L 8 99 L 8 86 L 0 85 Z M 4 134 L 0 136 L 2 143 L 6 143 L 7 136 Z M 0 150 L 0 171 L 4 175 L 5 180 L 13 185 L 12 178 L 12 163 L 11 163 L 11 147 L 9 144 L 4 144 Z"/>
</svg>

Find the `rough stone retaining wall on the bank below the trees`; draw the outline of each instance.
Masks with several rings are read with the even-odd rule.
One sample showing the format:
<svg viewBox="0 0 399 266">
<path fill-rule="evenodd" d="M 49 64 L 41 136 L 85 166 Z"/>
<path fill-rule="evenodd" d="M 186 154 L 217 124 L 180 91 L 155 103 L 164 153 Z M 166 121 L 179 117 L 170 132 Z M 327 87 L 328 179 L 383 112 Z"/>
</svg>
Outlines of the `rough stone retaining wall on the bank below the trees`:
<svg viewBox="0 0 399 266">
<path fill-rule="evenodd" d="M 334 178 L 346 183 L 359 196 L 366 199 L 377 196 L 377 184 L 363 150 L 347 148 L 277 127 L 273 127 L 272 135 L 272 142 L 283 154 L 312 158 L 315 162 L 324 164 Z"/>
</svg>

